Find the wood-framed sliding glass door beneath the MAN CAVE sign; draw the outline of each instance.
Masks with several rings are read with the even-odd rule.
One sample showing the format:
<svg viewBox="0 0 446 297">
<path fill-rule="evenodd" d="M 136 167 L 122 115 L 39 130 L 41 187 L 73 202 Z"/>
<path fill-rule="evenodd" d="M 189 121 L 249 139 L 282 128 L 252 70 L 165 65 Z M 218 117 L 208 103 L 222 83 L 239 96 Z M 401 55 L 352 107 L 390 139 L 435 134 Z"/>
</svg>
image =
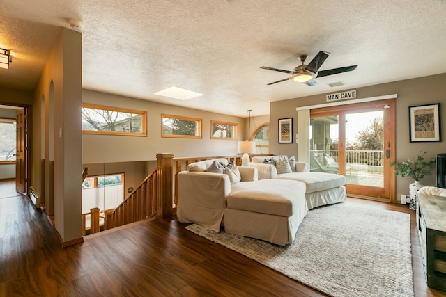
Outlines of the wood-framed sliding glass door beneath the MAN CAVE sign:
<svg viewBox="0 0 446 297">
<path fill-rule="evenodd" d="M 347 193 L 394 199 L 394 100 L 310 111 L 310 169 L 339 173 Z"/>
</svg>

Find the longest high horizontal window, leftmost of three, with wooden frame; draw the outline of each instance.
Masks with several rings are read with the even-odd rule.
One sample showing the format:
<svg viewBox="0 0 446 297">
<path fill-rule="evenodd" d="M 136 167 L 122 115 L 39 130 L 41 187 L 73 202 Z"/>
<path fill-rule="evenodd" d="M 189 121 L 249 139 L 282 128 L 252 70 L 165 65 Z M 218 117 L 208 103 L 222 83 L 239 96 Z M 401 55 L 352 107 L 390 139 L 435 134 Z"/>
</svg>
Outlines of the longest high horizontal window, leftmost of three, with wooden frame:
<svg viewBox="0 0 446 297">
<path fill-rule="evenodd" d="M 84 134 L 147 136 L 147 113 L 82 104 L 82 132 Z"/>
</svg>

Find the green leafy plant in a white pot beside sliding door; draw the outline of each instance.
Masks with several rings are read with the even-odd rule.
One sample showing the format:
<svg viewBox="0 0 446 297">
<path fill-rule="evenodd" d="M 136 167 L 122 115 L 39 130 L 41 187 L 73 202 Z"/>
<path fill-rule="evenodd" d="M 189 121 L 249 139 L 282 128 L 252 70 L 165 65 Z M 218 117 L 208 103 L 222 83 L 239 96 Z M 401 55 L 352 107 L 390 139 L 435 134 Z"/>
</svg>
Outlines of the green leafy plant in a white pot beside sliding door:
<svg viewBox="0 0 446 297">
<path fill-rule="evenodd" d="M 401 175 L 401 177 L 412 177 L 415 182 L 409 185 L 410 193 L 410 209 L 416 208 L 415 195 L 417 191 L 423 186 L 420 180 L 425 175 L 430 175 L 432 169 L 436 164 L 436 159 L 431 158 L 429 160 L 424 159 L 426 152 L 420 152 L 418 156 L 415 156 L 413 160 L 404 161 L 403 163 L 390 162 L 390 166 L 395 166 L 394 174 Z"/>
</svg>

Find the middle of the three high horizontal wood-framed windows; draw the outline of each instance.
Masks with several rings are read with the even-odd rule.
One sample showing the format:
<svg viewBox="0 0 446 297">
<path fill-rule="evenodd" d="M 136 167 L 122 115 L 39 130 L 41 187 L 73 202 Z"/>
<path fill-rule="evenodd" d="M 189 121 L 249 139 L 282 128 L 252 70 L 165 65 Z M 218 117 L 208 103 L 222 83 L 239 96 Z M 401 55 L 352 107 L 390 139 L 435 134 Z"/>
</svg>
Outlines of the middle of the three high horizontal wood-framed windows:
<svg viewBox="0 0 446 297">
<path fill-rule="evenodd" d="M 161 136 L 201 138 L 201 119 L 178 115 L 161 115 Z"/>
</svg>

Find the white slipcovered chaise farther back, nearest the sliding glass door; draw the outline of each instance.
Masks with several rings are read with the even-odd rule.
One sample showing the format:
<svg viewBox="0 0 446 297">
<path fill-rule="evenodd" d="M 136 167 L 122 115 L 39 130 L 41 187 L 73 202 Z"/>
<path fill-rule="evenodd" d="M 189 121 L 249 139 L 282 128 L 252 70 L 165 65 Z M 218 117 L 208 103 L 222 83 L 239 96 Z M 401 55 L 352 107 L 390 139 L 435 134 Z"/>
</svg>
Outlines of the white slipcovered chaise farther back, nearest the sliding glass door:
<svg viewBox="0 0 446 297">
<path fill-rule="evenodd" d="M 265 163 L 265 160 L 272 161 Z M 346 200 L 346 177 L 326 172 L 309 172 L 309 164 L 293 161 L 287 156 L 254 156 L 250 166 L 257 168 L 259 180 L 287 179 L 303 182 L 306 185 L 305 198 L 308 209 L 334 204 Z M 286 169 L 288 162 L 290 170 Z M 279 170 L 279 172 L 278 172 Z"/>
</svg>

